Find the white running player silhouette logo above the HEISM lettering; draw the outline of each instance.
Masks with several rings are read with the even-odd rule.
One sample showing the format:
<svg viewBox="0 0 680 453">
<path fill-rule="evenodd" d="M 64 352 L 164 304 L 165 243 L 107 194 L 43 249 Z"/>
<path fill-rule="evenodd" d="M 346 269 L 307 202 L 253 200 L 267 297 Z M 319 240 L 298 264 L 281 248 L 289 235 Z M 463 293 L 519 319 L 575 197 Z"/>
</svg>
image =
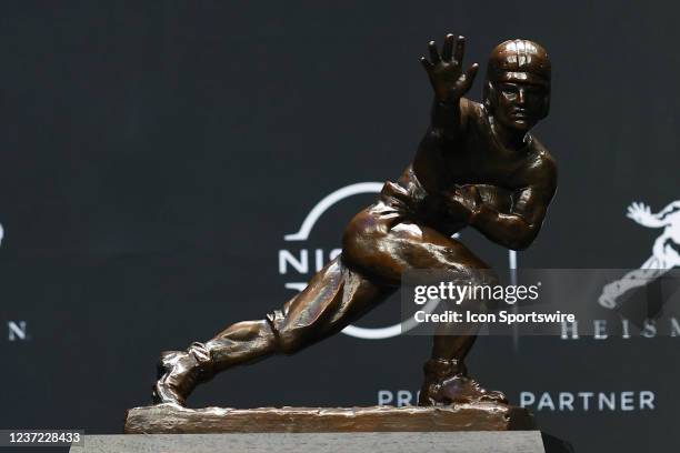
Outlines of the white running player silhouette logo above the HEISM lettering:
<svg viewBox="0 0 680 453">
<path fill-rule="evenodd" d="M 629 290 L 643 286 L 671 269 L 680 268 L 680 200 L 673 201 L 656 214 L 647 204 L 633 202 L 628 207 L 626 217 L 642 226 L 663 230 L 654 240 L 652 255 L 640 269 L 604 285 L 599 303 L 607 309 L 618 308 L 618 299 Z"/>
</svg>

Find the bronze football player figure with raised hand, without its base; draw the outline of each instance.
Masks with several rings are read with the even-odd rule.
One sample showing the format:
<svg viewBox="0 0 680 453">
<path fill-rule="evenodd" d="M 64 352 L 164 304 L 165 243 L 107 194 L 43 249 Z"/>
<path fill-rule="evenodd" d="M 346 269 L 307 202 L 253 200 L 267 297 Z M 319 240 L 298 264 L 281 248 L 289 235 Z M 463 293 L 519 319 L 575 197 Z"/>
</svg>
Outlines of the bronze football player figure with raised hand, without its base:
<svg viewBox="0 0 680 453">
<path fill-rule="evenodd" d="M 201 382 L 271 354 L 292 354 L 342 330 L 392 294 L 404 271 L 486 270 L 452 234 L 472 226 L 508 249 L 534 240 L 557 189 L 553 158 L 530 132 L 550 107 L 550 60 L 529 40 L 499 44 L 489 58 L 483 102 L 463 95 L 478 64 L 463 71 L 464 38 L 434 42 L 421 63 L 434 91 L 431 123 L 413 162 L 344 230 L 342 253 L 280 310 L 228 326 L 206 343 L 164 352 L 156 403 L 183 406 Z M 471 272 L 470 275 L 477 275 Z M 474 276 L 471 276 L 472 279 Z M 484 284 L 490 282 L 478 282 Z M 478 333 L 434 335 L 419 405 L 504 403 L 464 365 Z"/>
</svg>

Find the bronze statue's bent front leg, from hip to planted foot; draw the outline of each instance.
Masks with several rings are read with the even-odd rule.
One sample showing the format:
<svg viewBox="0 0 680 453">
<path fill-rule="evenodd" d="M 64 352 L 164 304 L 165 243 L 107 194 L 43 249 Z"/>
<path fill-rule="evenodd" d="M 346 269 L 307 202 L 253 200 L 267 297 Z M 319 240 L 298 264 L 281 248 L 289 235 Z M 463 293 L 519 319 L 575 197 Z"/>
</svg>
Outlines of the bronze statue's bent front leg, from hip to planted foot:
<svg viewBox="0 0 680 453">
<path fill-rule="evenodd" d="M 489 265 L 462 243 L 401 217 L 383 203 L 377 203 L 352 220 L 343 238 L 343 254 L 348 265 L 389 284 L 399 284 L 403 272 L 416 269 L 457 271 L 479 285 L 492 285 L 497 281 Z M 488 309 L 479 301 L 467 301 L 462 306 L 466 304 L 478 312 Z M 487 392 L 467 376 L 463 360 L 479 329 L 479 324 L 438 328 L 431 359 L 424 365 L 426 380 L 419 404 L 481 399 L 504 401 L 502 394 Z"/>
</svg>

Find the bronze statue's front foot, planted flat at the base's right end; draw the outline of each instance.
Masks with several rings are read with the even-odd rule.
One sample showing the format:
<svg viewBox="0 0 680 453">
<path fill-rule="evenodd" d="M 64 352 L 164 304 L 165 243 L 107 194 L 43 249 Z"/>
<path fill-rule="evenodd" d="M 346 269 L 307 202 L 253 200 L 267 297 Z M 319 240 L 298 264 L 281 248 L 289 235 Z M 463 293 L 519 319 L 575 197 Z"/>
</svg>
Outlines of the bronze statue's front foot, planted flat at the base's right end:
<svg viewBox="0 0 680 453">
<path fill-rule="evenodd" d="M 508 404 L 501 392 L 489 391 L 467 375 L 466 366 L 456 360 L 431 360 L 426 363 L 426 382 L 419 405 L 464 404 L 477 402 Z"/>
</svg>

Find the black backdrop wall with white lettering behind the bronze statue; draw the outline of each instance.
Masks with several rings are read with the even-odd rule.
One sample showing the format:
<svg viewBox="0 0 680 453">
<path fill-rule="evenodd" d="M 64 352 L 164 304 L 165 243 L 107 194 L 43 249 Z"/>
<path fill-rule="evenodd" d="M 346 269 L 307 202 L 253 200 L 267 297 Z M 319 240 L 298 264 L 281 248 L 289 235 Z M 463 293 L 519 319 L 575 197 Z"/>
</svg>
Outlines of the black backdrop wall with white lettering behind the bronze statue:
<svg viewBox="0 0 680 453">
<path fill-rule="evenodd" d="M 327 259 L 374 195 L 333 205 L 306 241 L 283 236 L 333 191 L 399 175 L 429 120 L 418 57 L 449 31 L 468 37 L 468 63 L 517 37 L 553 61 L 537 135 L 560 188 L 519 265 L 638 268 L 660 231 L 626 208 L 680 195 L 677 17 L 671 2 L 618 1 L 2 3 L 0 426 L 120 432 L 124 410 L 149 403 L 161 350 L 293 295 L 286 284 L 306 282 L 314 251 Z M 463 241 L 507 268 L 507 251 Z M 280 269 L 304 250 L 307 272 Z M 390 301 L 359 326 L 399 315 Z M 470 368 L 514 403 L 548 392 L 554 407 L 531 409 L 578 452 L 669 451 L 669 332 L 483 338 Z M 376 404 L 380 391 L 416 392 L 429 344 L 340 334 L 220 375 L 190 403 Z M 630 411 L 557 404 L 560 392 L 628 391 Z"/>
</svg>

